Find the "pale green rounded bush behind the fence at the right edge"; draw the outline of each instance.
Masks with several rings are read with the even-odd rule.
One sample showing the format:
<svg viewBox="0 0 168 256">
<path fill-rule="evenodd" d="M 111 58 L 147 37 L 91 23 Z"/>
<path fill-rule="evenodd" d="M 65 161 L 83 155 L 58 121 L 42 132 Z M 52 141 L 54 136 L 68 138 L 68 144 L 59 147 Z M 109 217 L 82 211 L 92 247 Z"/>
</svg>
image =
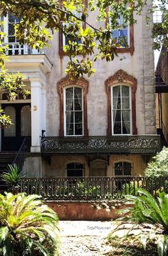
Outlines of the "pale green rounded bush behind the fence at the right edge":
<svg viewBox="0 0 168 256">
<path fill-rule="evenodd" d="M 168 148 L 164 147 L 161 152 L 153 157 L 145 169 L 145 177 L 167 177 L 168 176 Z"/>
</svg>

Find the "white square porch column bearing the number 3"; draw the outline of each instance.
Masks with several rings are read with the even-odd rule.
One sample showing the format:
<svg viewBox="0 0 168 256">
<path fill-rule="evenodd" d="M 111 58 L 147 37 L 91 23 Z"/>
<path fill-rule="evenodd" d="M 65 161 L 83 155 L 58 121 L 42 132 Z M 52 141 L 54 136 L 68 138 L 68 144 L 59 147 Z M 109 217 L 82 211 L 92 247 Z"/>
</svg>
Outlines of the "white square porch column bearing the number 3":
<svg viewBox="0 0 168 256">
<path fill-rule="evenodd" d="M 40 79 L 31 80 L 31 152 L 41 152 L 42 96 Z"/>
</svg>

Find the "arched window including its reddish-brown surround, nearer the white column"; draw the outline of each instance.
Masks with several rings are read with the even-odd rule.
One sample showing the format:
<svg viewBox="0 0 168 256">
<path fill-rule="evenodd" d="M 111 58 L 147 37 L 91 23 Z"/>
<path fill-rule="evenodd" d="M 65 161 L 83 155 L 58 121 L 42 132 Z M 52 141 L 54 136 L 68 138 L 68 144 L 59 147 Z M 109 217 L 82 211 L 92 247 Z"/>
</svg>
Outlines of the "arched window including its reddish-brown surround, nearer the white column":
<svg viewBox="0 0 168 256">
<path fill-rule="evenodd" d="M 58 82 L 60 97 L 60 136 L 88 136 L 88 82 L 65 77 Z"/>
</svg>

